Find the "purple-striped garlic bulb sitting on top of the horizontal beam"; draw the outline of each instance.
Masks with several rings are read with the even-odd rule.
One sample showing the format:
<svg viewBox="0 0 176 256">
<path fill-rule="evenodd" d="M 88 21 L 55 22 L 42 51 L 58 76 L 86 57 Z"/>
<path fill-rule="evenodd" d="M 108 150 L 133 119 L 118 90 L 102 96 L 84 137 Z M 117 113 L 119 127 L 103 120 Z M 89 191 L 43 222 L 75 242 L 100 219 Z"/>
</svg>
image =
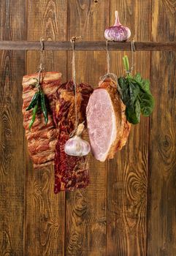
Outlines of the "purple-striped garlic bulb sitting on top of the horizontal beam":
<svg viewBox="0 0 176 256">
<path fill-rule="evenodd" d="M 114 26 L 110 26 L 104 31 L 104 37 L 108 41 L 126 41 L 131 36 L 131 31 L 127 26 L 122 26 L 118 18 L 118 11 L 115 11 Z"/>
</svg>

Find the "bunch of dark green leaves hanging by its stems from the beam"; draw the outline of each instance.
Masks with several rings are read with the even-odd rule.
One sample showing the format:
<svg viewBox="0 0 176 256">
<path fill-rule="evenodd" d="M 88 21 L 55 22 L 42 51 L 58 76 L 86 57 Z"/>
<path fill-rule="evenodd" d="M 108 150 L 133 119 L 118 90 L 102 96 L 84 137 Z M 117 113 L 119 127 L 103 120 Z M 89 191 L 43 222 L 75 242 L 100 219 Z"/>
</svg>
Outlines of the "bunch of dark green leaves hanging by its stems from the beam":
<svg viewBox="0 0 176 256">
<path fill-rule="evenodd" d="M 129 71 L 129 59 L 123 57 L 124 68 Z M 137 73 L 134 77 L 127 72 L 126 77 L 118 78 L 123 103 L 126 105 L 126 118 L 131 124 L 138 124 L 140 115 L 150 116 L 154 108 L 154 98 L 150 92 L 150 81 Z"/>
</svg>

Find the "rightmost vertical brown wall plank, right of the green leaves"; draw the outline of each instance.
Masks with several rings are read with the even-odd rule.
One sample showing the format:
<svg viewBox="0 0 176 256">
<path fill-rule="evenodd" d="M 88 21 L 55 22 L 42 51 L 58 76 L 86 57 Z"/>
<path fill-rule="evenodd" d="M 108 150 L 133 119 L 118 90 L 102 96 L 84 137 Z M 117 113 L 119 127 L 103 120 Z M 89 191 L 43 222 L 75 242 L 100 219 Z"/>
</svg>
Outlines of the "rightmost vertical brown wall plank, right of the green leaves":
<svg viewBox="0 0 176 256">
<path fill-rule="evenodd" d="M 153 1 L 152 40 L 175 41 L 175 1 Z M 148 255 L 176 252 L 175 53 L 151 53 Z"/>
</svg>

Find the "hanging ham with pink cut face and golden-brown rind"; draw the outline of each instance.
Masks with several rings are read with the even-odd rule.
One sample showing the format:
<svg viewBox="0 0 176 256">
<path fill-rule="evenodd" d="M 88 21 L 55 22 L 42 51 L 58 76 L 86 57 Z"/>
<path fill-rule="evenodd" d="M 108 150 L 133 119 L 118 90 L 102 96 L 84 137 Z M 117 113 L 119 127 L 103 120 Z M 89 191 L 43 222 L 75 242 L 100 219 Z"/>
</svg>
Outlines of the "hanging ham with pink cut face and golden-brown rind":
<svg viewBox="0 0 176 256">
<path fill-rule="evenodd" d="M 125 109 L 117 86 L 109 78 L 91 94 L 86 109 L 88 135 L 91 152 L 101 162 L 113 158 L 126 144 L 131 125 Z"/>
</svg>

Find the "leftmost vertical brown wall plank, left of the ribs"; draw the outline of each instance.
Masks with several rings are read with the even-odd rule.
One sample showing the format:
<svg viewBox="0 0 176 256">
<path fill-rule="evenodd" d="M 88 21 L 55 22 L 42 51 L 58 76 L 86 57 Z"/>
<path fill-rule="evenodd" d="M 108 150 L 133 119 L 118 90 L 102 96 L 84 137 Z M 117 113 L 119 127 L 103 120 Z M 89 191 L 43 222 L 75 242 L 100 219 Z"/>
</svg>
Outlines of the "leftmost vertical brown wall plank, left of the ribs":
<svg viewBox="0 0 176 256">
<path fill-rule="evenodd" d="M 26 39 L 24 1 L 0 1 L 0 39 Z M 0 52 L 0 254 L 23 255 L 24 142 L 21 78 L 26 53 Z"/>
</svg>

